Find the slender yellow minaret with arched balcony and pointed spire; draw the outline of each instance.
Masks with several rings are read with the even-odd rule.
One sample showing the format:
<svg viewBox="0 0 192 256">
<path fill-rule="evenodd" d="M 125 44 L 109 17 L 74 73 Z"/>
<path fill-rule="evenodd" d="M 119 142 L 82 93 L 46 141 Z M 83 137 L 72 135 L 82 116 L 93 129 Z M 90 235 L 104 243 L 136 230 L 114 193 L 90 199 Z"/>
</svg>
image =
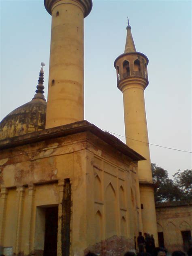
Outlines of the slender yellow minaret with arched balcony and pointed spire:
<svg viewBox="0 0 192 256">
<path fill-rule="evenodd" d="M 148 62 L 143 53 L 136 51 L 128 20 L 125 52 L 117 57 L 114 66 L 117 87 L 123 93 L 126 144 L 146 158 L 138 163 L 143 232 L 154 234 L 158 241 L 144 99 L 144 90 L 149 83 Z"/>
</svg>

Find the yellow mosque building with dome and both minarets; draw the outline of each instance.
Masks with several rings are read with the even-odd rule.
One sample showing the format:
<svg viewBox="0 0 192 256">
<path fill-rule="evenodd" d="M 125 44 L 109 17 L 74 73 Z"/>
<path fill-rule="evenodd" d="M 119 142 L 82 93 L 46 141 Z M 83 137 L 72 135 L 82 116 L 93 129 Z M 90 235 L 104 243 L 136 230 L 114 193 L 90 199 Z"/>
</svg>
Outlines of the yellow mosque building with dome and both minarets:
<svg viewBox="0 0 192 256">
<path fill-rule="evenodd" d="M 92 0 L 44 0 L 52 16 L 32 100 L 0 123 L 0 254 L 121 256 L 139 231 L 157 237 L 144 90 L 147 57 L 128 22 L 114 66 L 126 144 L 84 120 L 84 18 Z M 132 139 L 134 138 L 134 140 Z M 144 142 L 144 143 L 143 143 Z"/>
</svg>

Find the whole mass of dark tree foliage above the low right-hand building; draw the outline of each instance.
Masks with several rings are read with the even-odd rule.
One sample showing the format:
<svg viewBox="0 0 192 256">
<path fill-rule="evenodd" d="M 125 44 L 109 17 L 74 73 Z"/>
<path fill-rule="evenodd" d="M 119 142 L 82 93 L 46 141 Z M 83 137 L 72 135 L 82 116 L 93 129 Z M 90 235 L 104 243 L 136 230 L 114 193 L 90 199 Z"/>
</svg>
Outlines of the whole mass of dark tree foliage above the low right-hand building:
<svg viewBox="0 0 192 256">
<path fill-rule="evenodd" d="M 156 203 L 192 200 L 192 171 L 180 170 L 169 179 L 168 171 L 151 163 Z"/>
</svg>

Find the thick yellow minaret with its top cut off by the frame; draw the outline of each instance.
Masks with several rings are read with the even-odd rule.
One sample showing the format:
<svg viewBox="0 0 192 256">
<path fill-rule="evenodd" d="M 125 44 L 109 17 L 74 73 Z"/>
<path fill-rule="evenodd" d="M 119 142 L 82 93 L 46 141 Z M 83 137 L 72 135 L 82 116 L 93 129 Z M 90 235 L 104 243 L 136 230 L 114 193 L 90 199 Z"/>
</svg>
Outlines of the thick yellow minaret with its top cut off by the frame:
<svg viewBox="0 0 192 256">
<path fill-rule="evenodd" d="M 84 119 L 84 17 L 92 0 L 44 0 L 52 15 L 46 128 Z"/>
</svg>

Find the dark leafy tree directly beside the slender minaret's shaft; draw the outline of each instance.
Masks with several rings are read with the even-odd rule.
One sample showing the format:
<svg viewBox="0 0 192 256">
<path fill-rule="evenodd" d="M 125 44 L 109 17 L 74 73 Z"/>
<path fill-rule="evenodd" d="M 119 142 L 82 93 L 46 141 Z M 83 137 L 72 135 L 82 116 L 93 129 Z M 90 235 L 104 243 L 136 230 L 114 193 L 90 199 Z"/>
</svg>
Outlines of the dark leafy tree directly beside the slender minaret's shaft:
<svg viewBox="0 0 192 256">
<path fill-rule="evenodd" d="M 151 164 L 154 195 L 156 203 L 179 201 L 182 199 L 182 191 L 172 179 L 169 179 L 168 171 L 156 164 Z"/>
</svg>

